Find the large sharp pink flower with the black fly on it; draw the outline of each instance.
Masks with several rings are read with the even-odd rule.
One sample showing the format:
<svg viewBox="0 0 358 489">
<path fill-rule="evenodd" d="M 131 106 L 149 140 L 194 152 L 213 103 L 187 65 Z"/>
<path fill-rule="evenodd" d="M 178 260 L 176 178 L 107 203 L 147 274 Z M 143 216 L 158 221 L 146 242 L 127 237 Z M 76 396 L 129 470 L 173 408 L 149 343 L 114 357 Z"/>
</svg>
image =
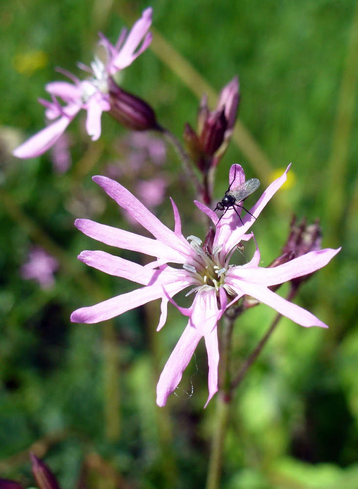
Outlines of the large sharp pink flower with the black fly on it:
<svg viewBox="0 0 358 489">
<path fill-rule="evenodd" d="M 235 181 L 233 181 L 234 176 Z M 242 223 L 233 209 L 228 209 L 219 221 L 211 209 L 196 202 L 201 211 L 216 225 L 212 245 L 204 247 L 196 236 L 184 238 L 181 233 L 179 212 L 173 201 L 175 229 L 171 231 L 119 183 L 106 177 L 93 177 L 93 180 L 147 229 L 154 239 L 85 219 L 78 219 L 75 222 L 77 228 L 102 243 L 138 251 L 154 256 L 156 259 L 146 266 L 141 266 L 104 251 L 83 251 L 79 259 L 90 267 L 126 278 L 143 287 L 94 306 L 78 309 L 72 313 L 71 320 L 79 323 L 96 323 L 149 301 L 161 299 L 161 316 L 157 327 L 157 330 L 160 330 L 166 321 L 168 302 L 174 303 L 172 299 L 174 295 L 187 287 L 192 288 L 189 294 L 195 293 L 190 308 L 177 306 L 179 311 L 189 317 L 189 321 L 159 378 L 157 384 L 159 406 L 163 406 L 168 396 L 177 388 L 182 373 L 202 337 L 205 340 L 209 365 L 207 402 L 216 393 L 219 363 L 217 323 L 224 311 L 245 294 L 256 297 L 302 326 L 327 327 L 313 314 L 286 301 L 268 287 L 325 266 L 339 250 L 312 251 L 284 265 L 262 268 L 259 267 L 260 253 L 256 248 L 252 260 L 246 265 L 229 265 L 236 245 L 253 236 L 245 233 L 255 222 L 255 218 L 259 216 L 268 200 L 284 183 L 286 172 L 271 183 L 250 209 L 252 216 L 246 214 L 242 218 Z M 245 181 L 245 174 L 240 165 L 231 167 L 229 180 L 234 186 Z M 169 266 L 168 263 L 180 264 L 182 268 Z"/>
</svg>

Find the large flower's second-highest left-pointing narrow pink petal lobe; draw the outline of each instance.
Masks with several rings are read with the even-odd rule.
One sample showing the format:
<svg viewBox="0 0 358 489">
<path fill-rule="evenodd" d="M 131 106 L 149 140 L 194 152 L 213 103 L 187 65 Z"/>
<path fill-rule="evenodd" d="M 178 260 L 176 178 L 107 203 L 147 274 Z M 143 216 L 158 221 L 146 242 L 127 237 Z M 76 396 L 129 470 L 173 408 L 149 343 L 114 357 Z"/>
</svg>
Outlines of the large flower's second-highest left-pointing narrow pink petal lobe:
<svg viewBox="0 0 358 489">
<path fill-rule="evenodd" d="M 89 219 L 76 219 L 75 226 L 86 236 L 117 248 L 138 251 L 173 263 L 184 263 L 182 255 L 170 246 L 152 238 L 107 226 Z"/>
</svg>

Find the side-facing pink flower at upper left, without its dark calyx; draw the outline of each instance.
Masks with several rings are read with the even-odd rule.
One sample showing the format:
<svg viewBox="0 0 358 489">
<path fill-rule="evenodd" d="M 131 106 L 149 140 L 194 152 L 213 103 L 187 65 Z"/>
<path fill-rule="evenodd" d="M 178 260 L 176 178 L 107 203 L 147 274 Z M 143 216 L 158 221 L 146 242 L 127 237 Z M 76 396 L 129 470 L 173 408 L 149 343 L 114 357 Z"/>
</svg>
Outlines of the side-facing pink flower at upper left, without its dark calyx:
<svg viewBox="0 0 358 489">
<path fill-rule="evenodd" d="M 107 62 L 103 64 L 96 58 L 90 67 L 80 65 L 89 71 L 91 78 L 79 80 L 76 76 L 63 71 L 72 80 L 69 82 L 52 82 L 45 87 L 51 95 L 52 102 L 40 100 L 45 108 L 46 118 L 53 121 L 45 129 L 30 137 L 13 154 L 19 158 L 32 158 L 42 155 L 58 140 L 66 130 L 68 124 L 84 109 L 87 111 L 86 130 L 95 141 L 101 135 L 101 115 L 103 111 L 111 109 L 109 101 L 109 77 L 123 68 L 128 67 L 150 44 L 151 33 L 148 32 L 152 23 L 152 9 L 143 11 L 142 17 L 135 22 L 126 37 L 126 30 L 122 30 L 115 45 L 101 35 L 100 44 L 107 51 Z M 56 97 L 65 102 L 62 106 Z"/>
</svg>

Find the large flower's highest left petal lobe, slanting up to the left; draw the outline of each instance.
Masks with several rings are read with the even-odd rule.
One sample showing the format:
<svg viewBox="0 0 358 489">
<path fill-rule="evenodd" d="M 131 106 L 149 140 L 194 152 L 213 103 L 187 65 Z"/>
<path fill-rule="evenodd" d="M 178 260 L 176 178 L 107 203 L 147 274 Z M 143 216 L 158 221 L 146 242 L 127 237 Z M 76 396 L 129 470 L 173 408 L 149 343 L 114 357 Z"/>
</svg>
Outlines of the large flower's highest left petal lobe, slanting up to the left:
<svg viewBox="0 0 358 489">
<path fill-rule="evenodd" d="M 107 177 L 92 177 L 104 191 L 112 197 L 123 209 L 139 222 L 145 229 L 153 234 L 157 240 L 167 244 L 176 251 L 182 253 L 184 257 L 192 256 L 193 251 L 183 236 L 177 236 L 167 226 L 152 214 L 131 192 L 120 185 L 118 182 Z"/>
</svg>

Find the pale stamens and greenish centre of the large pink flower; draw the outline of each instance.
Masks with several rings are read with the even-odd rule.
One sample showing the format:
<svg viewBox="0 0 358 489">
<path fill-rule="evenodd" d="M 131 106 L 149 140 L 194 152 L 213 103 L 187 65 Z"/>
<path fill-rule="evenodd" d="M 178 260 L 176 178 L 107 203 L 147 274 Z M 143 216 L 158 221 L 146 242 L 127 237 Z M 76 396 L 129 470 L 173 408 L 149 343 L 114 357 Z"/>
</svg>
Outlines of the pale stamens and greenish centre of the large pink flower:
<svg viewBox="0 0 358 489">
<path fill-rule="evenodd" d="M 190 240 L 190 247 L 195 251 L 195 257 L 188 263 L 184 263 L 183 268 L 196 280 L 199 287 L 194 290 L 214 287 L 218 291 L 224 285 L 226 274 L 226 267 L 219 261 L 222 246 L 216 246 L 212 253 L 209 253 L 208 250 L 202 249 L 201 239 L 196 236 L 188 236 L 187 240 Z"/>
</svg>

